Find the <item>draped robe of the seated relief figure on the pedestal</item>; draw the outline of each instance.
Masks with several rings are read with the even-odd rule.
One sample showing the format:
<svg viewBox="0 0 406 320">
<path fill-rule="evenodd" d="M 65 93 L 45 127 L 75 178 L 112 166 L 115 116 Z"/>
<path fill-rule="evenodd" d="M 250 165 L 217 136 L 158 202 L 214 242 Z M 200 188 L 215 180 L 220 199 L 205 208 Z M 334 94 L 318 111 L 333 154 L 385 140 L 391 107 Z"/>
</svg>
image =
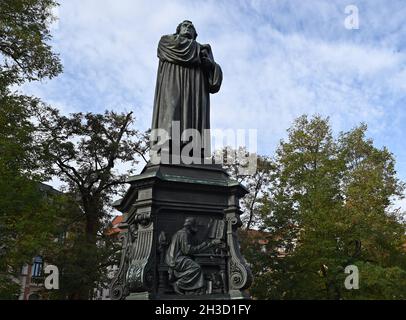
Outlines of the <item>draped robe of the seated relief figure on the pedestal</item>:
<svg viewBox="0 0 406 320">
<path fill-rule="evenodd" d="M 167 265 L 173 270 L 176 285 L 184 291 L 194 291 L 204 286 L 202 269 L 192 255 L 199 253 L 206 244 L 192 246 L 189 237 L 186 229 L 176 232 L 165 257 Z"/>
</svg>

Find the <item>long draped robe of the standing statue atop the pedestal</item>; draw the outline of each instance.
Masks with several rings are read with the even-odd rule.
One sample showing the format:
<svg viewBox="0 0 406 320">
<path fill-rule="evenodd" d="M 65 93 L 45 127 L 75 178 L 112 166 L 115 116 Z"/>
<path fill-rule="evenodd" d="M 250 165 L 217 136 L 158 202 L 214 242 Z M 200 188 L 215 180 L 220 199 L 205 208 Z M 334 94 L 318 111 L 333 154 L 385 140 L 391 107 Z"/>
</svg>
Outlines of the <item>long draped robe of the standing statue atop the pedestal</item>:
<svg viewBox="0 0 406 320">
<path fill-rule="evenodd" d="M 158 45 L 158 76 L 155 89 L 152 129 L 165 129 L 171 137 L 172 121 L 202 134 L 210 129 L 210 93 L 220 90 L 222 71 L 201 65 L 201 49 L 195 40 L 166 35 Z"/>
</svg>

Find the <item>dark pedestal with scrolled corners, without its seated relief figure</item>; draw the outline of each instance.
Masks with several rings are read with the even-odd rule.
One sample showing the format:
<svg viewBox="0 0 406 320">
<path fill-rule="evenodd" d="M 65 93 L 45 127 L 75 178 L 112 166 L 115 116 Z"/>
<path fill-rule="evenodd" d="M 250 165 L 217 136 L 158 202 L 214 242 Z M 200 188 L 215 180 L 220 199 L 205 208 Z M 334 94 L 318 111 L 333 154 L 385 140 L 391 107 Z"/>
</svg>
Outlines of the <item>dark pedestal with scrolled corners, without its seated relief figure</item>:
<svg viewBox="0 0 406 320">
<path fill-rule="evenodd" d="M 125 232 L 112 299 L 245 297 L 252 275 L 236 232 L 241 226 L 239 199 L 247 193 L 244 187 L 217 165 L 150 165 L 129 183 L 125 197 L 114 204 L 124 213 Z M 193 255 L 203 272 L 203 295 L 178 295 L 168 279 L 166 250 L 186 217 L 197 221 L 196 243 L 213 237 L 222 241 L 219 247 Z"/>
</svg>

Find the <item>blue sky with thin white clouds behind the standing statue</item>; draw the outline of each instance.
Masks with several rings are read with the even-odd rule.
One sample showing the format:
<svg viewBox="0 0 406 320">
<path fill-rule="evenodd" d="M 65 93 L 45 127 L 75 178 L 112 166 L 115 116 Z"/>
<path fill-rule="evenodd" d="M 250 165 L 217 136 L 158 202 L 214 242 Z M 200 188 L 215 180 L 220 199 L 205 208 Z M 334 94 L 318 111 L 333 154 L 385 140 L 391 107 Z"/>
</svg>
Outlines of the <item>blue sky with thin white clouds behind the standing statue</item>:
<svg viewBox="0 0 406 320">
<path fill-rule="evenodd" d="M 52 43 L 64 73 L 23 90 L 64 112 L 133 110 L 147 129 L 157 43 L 189 19 L 224 73 L 211 100 L 213 128 L 257 129 L 259 152 L 272 154 L 303 113 L 329 116 L 336 133 L 365 122 L 406 180 L 404 0 L 60 4 Z M 344 27 L 347 5 L 359 9 L 358 30 Z"/>
</svg>

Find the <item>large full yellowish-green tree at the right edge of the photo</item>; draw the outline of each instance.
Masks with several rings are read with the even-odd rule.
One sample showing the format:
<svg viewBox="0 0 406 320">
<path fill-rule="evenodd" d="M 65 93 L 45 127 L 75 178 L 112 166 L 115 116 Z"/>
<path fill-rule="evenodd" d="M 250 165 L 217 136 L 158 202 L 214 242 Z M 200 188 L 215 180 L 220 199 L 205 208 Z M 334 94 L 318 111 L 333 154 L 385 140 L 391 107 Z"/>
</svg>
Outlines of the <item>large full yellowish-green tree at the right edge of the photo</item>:
<svg viewBox="0 0 406 320">
<path fill-rule="evenodd" d="M 393 155 L 374 147 L 365 133 L 361 125 L 334 139 L 328 119 L 306 116 L 289 130 L 262 199 L 270 240 L 268 254 L 253 260 L 263 266 L 254 296 L 405 298 L 405 225 L 391 209 L 404 185 Z M 359 268 L 359 290 L 344 287 L 348 265 Z"/>
</svg>

